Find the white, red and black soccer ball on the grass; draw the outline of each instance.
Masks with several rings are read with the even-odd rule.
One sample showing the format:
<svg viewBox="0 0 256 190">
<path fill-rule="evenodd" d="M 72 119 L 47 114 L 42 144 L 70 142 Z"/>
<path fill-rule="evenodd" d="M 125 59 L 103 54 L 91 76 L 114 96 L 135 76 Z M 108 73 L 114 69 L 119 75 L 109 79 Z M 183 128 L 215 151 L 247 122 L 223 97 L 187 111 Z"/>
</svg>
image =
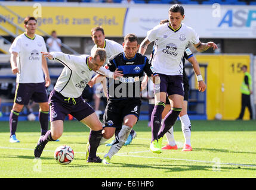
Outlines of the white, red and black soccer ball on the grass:
<svg viewBox="0 0 256 190">
<path fill-rule="evenodd" d="M 54 159 L 59 164 L 69 164 L 74 159 L 74 151 L 68 145 L 62 145 L 54 151 Z"/>
</svg>

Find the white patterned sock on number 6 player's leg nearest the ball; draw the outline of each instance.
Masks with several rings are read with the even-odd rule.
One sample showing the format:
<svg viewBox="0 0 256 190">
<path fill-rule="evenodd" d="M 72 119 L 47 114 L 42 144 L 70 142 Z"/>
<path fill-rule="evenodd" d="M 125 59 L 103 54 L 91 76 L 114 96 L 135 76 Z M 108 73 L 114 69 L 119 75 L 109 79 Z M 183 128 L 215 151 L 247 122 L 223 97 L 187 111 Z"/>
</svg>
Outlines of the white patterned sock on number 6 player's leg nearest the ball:
<svg viewBox="0 0 256 190">
<path fill-rule="evenodd" d="M 110 147 L 110 150 L 107 154 L 105 154 L 104 157 L 109 156 L 111 159 L 112 156 L 114 156 L 118 151 L 122 148 L 122 146 L 125 144 L 125 141 L 127 140 L 129 133 L 131 132 L 131 129 L 129 126 L 123 125 L 121 131 L 115 138 L 115 142 Z"/>
</svg>

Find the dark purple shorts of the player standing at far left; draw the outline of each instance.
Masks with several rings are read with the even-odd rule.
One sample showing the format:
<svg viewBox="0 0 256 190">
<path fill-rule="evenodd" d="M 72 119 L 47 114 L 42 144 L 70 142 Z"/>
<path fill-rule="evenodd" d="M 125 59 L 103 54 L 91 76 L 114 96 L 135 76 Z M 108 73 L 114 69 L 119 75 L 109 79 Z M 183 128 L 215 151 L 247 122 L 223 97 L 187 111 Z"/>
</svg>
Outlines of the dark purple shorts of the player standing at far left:
<svg viewBox="0 0 256 190">
<path fill-rule="evenodd" d="M 27 105 L 29 100 L 34 102 L 48 102 L 48 94 L 45 83 L 17 83 L 14 97 L 15 103 Z"/>
</svg>

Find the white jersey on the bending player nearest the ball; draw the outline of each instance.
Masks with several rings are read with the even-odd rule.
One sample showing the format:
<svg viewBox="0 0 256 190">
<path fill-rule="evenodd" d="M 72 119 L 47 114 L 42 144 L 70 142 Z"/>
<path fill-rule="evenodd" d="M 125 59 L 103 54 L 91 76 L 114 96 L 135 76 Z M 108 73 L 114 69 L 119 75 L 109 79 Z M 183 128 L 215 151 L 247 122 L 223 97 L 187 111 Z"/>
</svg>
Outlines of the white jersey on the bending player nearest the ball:
<svg viewBox="0 0 256 190">
<path fill-rule="evenodd" d="M 88 67 L 89 55 L 74 56 L 62 52 L 51 52 L 53 58 L 64 65 L 63 71 L 58 77 L 54 90 L 64 97 L 77 98 L 82 95 L 88 81 L 91 80 L 92 71 Z"/>
</svg>

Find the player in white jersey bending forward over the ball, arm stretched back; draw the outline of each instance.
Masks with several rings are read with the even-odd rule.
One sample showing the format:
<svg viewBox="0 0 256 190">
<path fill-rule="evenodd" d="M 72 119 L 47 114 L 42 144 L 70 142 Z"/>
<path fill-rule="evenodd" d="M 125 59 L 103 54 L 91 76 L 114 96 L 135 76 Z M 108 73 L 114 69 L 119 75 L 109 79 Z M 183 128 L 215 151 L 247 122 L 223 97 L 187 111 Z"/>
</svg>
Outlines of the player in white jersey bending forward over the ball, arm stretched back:
<svg viewBox="0 0 256 190">
<path fill-rule="evenodd" d="M 95 49 L 91 56 L 73 56 L 62 52 L 42 52 L 48 59 L 55 59 L 64 65 L 58 77 L 54 90 L 49 97 L 51 130 L 39 138 L 34 155 L 39 158 L 48 141 L 55 141 L 63 133 L 63 121 L 68 114 L 87 125 L 91 131 L 89 135 L 90 149 L 86 157 L 87 162 L 100 163 L 96 151 L 102 136 L 102 124 L 92 107 L 82 99 L 82 91 L 91 80 L 94 71 L 107 77 L 121 77 L 119 72 L 110 72 L 103 67 L 106 61 L 106 51 Z"/>
</svg>

